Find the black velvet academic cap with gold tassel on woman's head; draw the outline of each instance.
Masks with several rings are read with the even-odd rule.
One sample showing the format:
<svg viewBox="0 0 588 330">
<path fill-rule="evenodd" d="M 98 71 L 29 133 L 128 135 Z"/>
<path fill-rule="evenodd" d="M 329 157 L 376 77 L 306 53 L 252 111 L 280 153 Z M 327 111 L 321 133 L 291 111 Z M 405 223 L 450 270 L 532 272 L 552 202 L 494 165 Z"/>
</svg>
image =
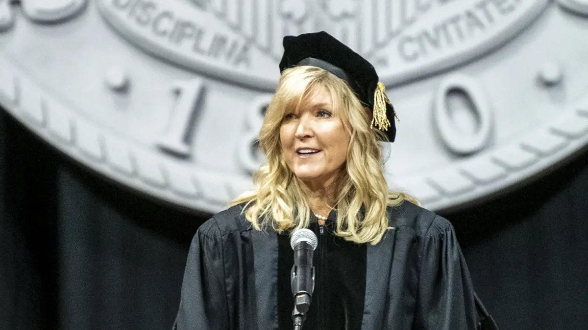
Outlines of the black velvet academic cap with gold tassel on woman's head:
<svg viewBox="0 0 588 330">
<path fill-rule="evenodd" d="M 310 65 L 325 69 L 345 80 L 358 99 L 372 110 L 372 126 L 382 130 L 389 142 L 396 137 L 395 112 L 378 81 L 373 65 L 325 31 L 285 36 L 280 73 L 293 66 Z"/>
</svg>

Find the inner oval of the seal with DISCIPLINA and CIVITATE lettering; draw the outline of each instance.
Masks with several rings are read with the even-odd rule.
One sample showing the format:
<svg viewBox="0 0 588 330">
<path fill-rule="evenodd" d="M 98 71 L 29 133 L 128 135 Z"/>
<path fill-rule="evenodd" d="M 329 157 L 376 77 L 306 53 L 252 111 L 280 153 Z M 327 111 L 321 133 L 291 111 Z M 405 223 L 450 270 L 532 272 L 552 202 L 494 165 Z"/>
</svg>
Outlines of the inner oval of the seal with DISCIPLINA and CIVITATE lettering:
<svg viewBox="0 0 588 330">
<path fill-rule="evenodd" d="M 460 65 L 519 33 L 547 0 L 99 0 L 140 49 L 184 68 L 272 90 L 284 35 L 325 30 L 402 84 Z"/>
</svg>

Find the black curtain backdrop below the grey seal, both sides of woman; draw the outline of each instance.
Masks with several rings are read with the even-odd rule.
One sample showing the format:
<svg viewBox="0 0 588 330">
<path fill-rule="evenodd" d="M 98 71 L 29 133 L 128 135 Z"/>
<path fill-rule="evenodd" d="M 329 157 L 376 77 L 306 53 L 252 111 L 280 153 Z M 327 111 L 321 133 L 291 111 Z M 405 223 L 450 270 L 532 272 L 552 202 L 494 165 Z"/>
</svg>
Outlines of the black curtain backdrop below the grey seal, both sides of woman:
<svg viewBox="0 0 588 330">
<path fill-rule="evenodd" d="M 588 328 L 588 153 L 443 214 L 500 329 Z M 0 110 L 0 329 L 170 329 L 189 214 L 103 180 Z"/>
</svg>

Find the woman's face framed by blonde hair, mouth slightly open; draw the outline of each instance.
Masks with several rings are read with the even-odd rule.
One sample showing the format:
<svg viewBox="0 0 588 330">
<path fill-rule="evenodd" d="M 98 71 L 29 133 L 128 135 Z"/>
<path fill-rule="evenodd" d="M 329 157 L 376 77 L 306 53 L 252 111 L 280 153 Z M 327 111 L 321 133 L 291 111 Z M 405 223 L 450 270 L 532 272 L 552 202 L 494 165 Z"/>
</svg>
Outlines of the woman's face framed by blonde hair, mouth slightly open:
<svg viewBox="0 0 588 330">
<path fill-rule="evenodd" d="M 347 157 L 349 134 L 337 113 L 330 93 L 318 87 L 299 113 L 286 112 L 280 127 L 283 157 L 298 179 L 305 183 L 332 183 Z"/>
</svg>

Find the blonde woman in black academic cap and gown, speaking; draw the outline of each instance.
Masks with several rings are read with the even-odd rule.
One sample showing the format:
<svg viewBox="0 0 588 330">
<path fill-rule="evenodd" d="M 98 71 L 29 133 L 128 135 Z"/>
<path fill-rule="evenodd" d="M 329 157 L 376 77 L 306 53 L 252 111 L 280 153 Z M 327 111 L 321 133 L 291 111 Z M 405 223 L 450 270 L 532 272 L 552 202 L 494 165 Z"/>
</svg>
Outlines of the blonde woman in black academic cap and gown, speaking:
<svg viewBox="0 0 588 330">
<path fill-rule="evenodd" d="M 325 32 L 287 36 L 256 189 L 196 233 L 175 327 L 292 329 L 289 235 L 310 228 L 304 329 L 495 329 L 450 223 L 388 190 L 395 113 L 368 61 Z"/>
</svg>

